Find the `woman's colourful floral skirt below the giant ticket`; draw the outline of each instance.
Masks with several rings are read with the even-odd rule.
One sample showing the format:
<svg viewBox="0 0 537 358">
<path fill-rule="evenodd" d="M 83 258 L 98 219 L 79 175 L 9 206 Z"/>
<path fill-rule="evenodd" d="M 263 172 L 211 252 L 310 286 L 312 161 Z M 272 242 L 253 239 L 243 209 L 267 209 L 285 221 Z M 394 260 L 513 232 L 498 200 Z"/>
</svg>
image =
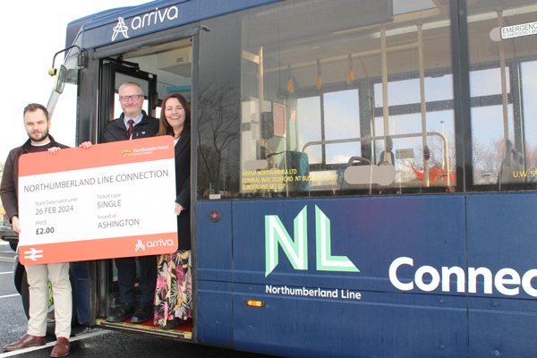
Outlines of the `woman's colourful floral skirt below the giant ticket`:
<svg viewBox="0 0 537 358">
<path fill-rule="evenodd" d="M 158 256 L 155 325 L 192 318 L 191 262 L 190 250 Z"/>
</svg>

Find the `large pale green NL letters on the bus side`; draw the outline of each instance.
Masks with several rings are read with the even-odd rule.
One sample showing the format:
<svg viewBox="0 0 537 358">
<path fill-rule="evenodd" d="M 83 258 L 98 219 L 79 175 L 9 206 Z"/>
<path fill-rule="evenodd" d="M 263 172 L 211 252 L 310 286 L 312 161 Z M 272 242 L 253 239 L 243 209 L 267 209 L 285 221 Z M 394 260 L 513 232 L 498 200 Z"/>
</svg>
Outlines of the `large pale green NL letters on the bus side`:
<svg viewBox="0 0 537 358">
<path fill-rule="evenodd" d="M 360 272 L 346 256 L 332 256 L 330 220 L 315 206 L 317 269 L 320 271 Z M 277 245 L 286 252 L 294 269 L 308 269 L 307 207 L 294 218 L 294 241 L 277 215 L 265 216 L 265 277 L 277 267 Z"/>
</svg>

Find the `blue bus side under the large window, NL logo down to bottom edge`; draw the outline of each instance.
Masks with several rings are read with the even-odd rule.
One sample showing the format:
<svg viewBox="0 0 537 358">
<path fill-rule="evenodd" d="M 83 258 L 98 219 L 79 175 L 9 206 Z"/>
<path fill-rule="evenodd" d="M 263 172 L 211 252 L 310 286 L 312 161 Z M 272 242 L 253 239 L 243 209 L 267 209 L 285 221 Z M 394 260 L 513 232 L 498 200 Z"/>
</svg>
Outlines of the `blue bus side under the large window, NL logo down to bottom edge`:
<svg viewBox="0 0 537 358">
<path fill-rule="evenodd" d="M 277 217 L 280 233 L 297 243 L 304 209 L 307 269 L 295 269 L 276 243 L 277 266 L 268 273 L 269 221 Z M 234 347 L 290 356 L 464 355 L 466 297 L 456 283 L 448 293 L 415 284 L 405 292 L 388 279 L 400 257 L 414 262 L 397 270 L 404 283 L 424 265 L 465 268 L 464 213 L 461 195 L 234 201 Z M 322 215 L 329 220 L 328 256 L 346 257 L 360 272 L 319 269 Z"/>
</svg>

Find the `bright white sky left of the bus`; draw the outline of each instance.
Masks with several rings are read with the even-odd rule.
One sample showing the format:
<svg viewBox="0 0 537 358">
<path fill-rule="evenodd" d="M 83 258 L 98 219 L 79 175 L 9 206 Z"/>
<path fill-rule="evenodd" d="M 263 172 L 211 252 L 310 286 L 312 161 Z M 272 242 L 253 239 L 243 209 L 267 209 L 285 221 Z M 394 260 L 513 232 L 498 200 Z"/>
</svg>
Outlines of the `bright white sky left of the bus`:
<svg viewBox="0 0 537 358">
<path fill-rule="evenodd" d="M 0 162 L 4 163 L 9 151 L 28 140 L 24 130 L 22 111 L 29 103 L 47 106 L 54 78 L 47 74 L 56 52 L 65 47 L 65 30 L 73 20 L 110 8 L 147 4 L 149 0 L 92 0 L 77 3 L 68 0 L 19 3 L 4 2 L 3 20 L 0 21 L 2 55 L 0 64 L 4 70 L 0 94 L 3 103 L 3 120 L 0 124 Z M 20 4 L 23 4 L 19 6 Z M 63 55 L 56 57 L 56 67 Z M 58 61 L 60 60 L 60 61 Z M 72 118 L 75 121 L 76 118 Z M 56 141 L 70 144 L 73 137 L 55 126 L 50 133 Z"/>
</svg>

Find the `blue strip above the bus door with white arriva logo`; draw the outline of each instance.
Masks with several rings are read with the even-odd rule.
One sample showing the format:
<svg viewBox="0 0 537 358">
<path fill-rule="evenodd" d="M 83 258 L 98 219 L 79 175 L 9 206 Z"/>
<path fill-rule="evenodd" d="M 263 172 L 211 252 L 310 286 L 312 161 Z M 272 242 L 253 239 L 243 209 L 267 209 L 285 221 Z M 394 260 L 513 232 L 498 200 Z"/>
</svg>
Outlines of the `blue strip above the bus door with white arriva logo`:
<svg viewBox="0 0 537 358">
<path fill-rule="evenodd" d="M 66 41 L 76 38 L 70 33 L 70 27 L 74 30 L 77 24 L 81 26 L 78 36 L 80 32 L 83 33 L 79 45 L 83 49 L 88 49 L 279 1 L 283 0 L 155 1 L 140 6 L 108 10 L 72 21 L 67 27 Z"/>
</svg>

